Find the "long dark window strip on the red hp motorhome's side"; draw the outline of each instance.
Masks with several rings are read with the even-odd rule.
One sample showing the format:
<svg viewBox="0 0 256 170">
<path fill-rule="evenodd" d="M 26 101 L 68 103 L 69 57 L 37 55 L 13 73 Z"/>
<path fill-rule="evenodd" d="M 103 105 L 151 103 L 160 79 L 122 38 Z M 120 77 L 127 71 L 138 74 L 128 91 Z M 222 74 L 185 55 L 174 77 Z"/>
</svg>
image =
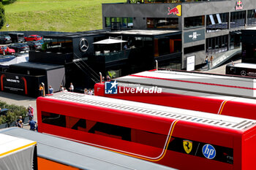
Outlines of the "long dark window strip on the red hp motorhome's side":
<svg viewBox="0 0 256 170">
<path fill-rule="evenodd" d="M 42 112 L 42 123 L 57 125 L 90 134 L 108 136 L 129 142 L 137 142 L 153 147 L 163 147 L 167 136 L 121 125 L 112 125 L 78 117 L 59 115 L 56 113 Z M 150 140 L 148 140 L 150 139 Z"/>
</svg>

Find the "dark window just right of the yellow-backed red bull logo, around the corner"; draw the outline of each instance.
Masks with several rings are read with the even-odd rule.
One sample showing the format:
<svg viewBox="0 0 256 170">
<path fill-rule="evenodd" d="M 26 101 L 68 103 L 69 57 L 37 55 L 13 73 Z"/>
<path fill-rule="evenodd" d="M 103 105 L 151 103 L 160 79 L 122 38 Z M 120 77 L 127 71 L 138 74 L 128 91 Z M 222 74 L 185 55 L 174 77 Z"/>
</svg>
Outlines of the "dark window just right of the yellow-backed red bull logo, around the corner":
<svg viewBox="0 0 256 170">
<path fill-rule="evenodd" d="M 184 28 L 205 26 L 205 16 L 184 18 Z"/>
</svg>

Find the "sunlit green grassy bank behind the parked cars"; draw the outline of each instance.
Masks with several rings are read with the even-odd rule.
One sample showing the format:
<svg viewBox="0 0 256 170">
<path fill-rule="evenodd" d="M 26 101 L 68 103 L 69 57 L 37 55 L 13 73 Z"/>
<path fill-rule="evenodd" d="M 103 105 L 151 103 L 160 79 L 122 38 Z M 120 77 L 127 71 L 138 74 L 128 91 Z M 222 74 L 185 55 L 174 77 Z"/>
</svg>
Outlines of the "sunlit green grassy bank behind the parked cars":
<svg viewBox="0 0 256 170">
<path fill-rule="evenodd" d="M 7 0 L 6 0 L 7 1 Z M 5 3 L 8 31 L 88 31 L 102 28 L 102 4 L 125 0 L 17 0 Z M 7 27 L 0 31 L 7 31 Z"/>
</svg>

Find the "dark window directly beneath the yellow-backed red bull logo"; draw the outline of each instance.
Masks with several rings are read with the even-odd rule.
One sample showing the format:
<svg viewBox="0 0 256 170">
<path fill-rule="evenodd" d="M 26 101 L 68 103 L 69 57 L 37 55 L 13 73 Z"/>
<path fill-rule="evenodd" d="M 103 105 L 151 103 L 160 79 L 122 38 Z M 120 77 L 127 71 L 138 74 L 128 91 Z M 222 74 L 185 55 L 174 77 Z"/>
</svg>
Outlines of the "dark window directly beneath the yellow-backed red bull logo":
<svg viewBox="0 0 256 170">
<path fill-rule="evenodd" d="M 147 18 L 147 28 L 178 29 L 178 18 Z"/>
</svg>

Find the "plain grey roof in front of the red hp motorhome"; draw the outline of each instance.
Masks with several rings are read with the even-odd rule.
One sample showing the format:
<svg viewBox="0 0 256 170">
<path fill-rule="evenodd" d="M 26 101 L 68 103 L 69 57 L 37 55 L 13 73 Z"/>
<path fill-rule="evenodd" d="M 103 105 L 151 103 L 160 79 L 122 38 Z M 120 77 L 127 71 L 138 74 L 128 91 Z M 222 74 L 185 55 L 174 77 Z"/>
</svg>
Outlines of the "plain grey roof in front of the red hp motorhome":
<svg viewBox="0 0 256 170">
<path fill-rule="evenodd" d="M 157 163 L 143 161 L 127 155 L 92 147 L 87 144 L 72 142 L 48 134 L 36 133 L 23 128 L 7 128 L 0 130 L 7 134 L 23 139 L 37 141 L 37 155 L 50 161 L 63 163 L 78 169 L 86 170 L 174 170 Z"/>
</svg>

